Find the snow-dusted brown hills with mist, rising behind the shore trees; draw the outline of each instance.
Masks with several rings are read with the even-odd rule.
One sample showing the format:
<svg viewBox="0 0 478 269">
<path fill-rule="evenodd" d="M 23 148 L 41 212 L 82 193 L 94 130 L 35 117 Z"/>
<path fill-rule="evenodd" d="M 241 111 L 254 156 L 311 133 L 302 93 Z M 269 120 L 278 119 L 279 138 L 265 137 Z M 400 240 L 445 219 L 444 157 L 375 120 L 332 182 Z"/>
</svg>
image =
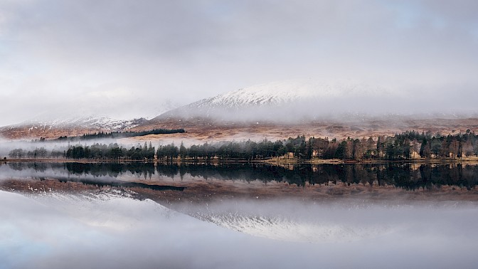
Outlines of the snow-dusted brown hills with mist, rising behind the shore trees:
<svg viewBox="0 0 478 269">
<path fill-rule="evenodd" d="M 63 116 L 57 120 L 31 120 L 1 127 L 0 137 L 58 138 L 92 132 L 181 128 L 187 134 L 169 137 L 260 139 L 290 135 L 361 137 L 394 135 L 409 130 L 478 131 L 478 109 L 466 105 L 474 102 L 455 102 L 455 95 L 440 97 L 433 95 L 433 91 L 416 89 L 354 80 L 285 80 L 198 100 L 168 110 L 152 120 Z M 58 112 L 60 114 L 63 112 Z M 161 135 L 161 139 L 164 137 L 168 136 Z"/>
</svg>

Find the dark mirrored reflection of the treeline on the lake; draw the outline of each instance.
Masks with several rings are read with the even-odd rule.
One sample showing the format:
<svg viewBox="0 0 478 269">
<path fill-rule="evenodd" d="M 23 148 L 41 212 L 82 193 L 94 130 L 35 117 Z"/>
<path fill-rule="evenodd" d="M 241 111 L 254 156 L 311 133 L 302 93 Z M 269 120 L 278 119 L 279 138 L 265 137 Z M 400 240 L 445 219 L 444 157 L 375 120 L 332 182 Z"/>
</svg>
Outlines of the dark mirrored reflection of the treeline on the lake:
<svg viewBox="0 0 478 269">
<path fill-rule="evenodd" d="M 116 186 L 129 179 L 203 179 L 285 181 L 306 184 L 378 184 L 403 189 L 429 189 L 450 185 L 472 189 L 478 182 L 478 165 L 462 164 L 300 164 L 278 167 L 267 164 L 147 164 L 147 163 L 47 163 L 19 162 L 0 165 L 0 179 L 33 178 L 98 182 Z M 125 183 L 122 183 L 121 186 Z M 120 185 L 117 185 L 120 186 Z"/>
</svg>

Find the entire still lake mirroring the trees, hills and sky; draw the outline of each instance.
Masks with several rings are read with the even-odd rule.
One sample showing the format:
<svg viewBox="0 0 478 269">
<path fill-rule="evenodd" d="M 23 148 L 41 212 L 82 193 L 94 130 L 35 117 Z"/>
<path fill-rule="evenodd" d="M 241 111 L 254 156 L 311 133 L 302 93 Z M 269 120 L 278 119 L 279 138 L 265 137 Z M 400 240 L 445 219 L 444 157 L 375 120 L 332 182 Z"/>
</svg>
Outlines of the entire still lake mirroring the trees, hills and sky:
<svg viewBox="0 0 478 269">
<path fill-rule="evenodd" d="M 0 268 L 474 268 L 477 173 L 1 164 Z"/>
</svg>

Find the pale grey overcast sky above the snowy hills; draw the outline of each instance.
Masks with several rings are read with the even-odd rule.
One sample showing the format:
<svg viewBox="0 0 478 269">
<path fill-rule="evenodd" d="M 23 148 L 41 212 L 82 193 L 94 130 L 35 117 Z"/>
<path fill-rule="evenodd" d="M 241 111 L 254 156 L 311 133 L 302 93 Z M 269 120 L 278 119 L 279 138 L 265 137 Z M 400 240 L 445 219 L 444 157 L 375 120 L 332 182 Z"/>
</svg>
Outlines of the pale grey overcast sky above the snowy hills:
<svg viewBox="0 0 478 269">
<path fill-rule="evenodd" d="M 0 126 L 39 115 L 153 117 L 311 77 L 470 100 L 476 14 L 474 0 L 0 0 Z"/>
</svg>

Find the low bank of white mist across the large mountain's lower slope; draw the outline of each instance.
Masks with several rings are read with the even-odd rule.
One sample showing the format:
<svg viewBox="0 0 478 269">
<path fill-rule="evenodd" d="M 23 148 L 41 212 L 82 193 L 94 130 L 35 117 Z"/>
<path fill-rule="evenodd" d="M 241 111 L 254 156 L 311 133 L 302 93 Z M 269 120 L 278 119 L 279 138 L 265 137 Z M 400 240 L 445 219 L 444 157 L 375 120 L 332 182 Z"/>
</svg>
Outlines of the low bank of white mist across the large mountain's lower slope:
<svg viewBox="0 0 478 269">
<path fill-rule="evenodd" d="M 413 103 L 413 108 L 406 107 L 407 103 Z M 404 105 L 405 104 L 405 105 Z M 421 105 L 423 104 L 423 105 Z M 391 124 L 400 122 L 400 124 L 409 123 L 408 120 L 425 119 L 466 119 L 469 117 L 478 117 L 478 110 L 474 110 L 469 102 L 467 107 L 463 107 L 462 102 L 455 102 L 453 105 L 447 105 L 445 102 L 430 102 L 423 99 L 406 101 L 405 99 L 383 100 L 381 98 L 334 98 L 324 99 L 317 102 L 297 101 L 286 105 L 250 105 L 243 107 L 213 107 L 213 108 L 195 108 L 193 110 L 172 110 L 161 115 L 158 119 L 164 117 L 173 117 L 180 119 L 208 119 L 215 123 L 225 122 L 244 123 L 244 124 L 297 124 L 309 123 L 314 121 L 352 123 L 360 126 L 370 125 L 371 122 L 378 120 L 390 122 Z M 405 107 L 405 110 L 403 108 Z M 442 109 L 445 107 L 445 109 Z M 428 109 L 427 109 L 428 108 Z M 403 129 L 403 132 L 407 131 Z M 253 134 L 251 134 L 253 135 Z"/>
</svg>

